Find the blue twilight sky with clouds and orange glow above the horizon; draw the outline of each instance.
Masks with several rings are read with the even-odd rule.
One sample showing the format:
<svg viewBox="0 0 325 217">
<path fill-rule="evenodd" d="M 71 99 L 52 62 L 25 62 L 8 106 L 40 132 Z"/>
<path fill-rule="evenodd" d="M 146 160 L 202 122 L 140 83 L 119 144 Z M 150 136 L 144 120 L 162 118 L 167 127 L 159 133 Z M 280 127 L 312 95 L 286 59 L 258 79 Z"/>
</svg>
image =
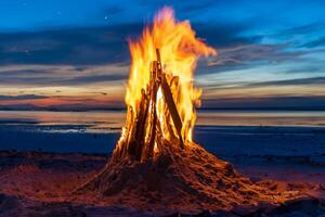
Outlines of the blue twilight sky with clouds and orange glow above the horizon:
<svg viewBox="0 0 325 217">
<path fill-rule="evenodd" d="M 0 108 L 123 107 L 127 40 L 164 5 L 219 53 L 203 107 L 325 110 L 323 0 L 1 0 Z"/>
</svg>

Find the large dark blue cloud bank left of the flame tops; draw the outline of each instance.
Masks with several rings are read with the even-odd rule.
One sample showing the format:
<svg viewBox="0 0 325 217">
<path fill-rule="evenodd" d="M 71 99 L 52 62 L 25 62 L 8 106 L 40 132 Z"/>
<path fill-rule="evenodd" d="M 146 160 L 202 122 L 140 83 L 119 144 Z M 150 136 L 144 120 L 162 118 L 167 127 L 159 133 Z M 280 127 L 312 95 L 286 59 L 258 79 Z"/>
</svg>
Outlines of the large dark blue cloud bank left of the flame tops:
<svg viewBox="0 0 325 217">
<path fill-rule="evenodd" d="M 127 38 L 142 24 L 63 28 L 0 34 L 0 64 L 122 63 L 129 59 Z"/>
</svg>

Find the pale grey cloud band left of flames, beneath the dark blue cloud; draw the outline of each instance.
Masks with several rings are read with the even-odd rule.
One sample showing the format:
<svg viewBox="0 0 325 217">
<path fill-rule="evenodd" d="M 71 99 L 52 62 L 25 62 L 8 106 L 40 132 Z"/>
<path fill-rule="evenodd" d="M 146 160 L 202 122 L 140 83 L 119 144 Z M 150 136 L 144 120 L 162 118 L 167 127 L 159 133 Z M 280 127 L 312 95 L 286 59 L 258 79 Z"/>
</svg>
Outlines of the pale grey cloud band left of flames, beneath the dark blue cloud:
<svg viewBox="0 0 325 217">
<path fill-rule="evenodd" d="M 0 67 L 2 86 L 83 86 L 98 82 L 120 81 L 128 78 L 129 68 L 120 65 L 16 65 Z"/>
</svg>

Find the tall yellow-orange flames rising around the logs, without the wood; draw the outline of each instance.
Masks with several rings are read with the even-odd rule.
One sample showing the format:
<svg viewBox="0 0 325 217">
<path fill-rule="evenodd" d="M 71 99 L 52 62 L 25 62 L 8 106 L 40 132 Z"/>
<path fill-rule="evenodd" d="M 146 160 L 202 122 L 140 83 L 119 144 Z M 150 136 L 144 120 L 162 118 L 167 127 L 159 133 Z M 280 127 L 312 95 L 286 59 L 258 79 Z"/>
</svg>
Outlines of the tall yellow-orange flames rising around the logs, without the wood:
<svg viewBox="0 0 325 217">
<path fill-rule="evenodd" d="M 192 129 L 196 120 L 195 107 L 198 105 L 202 90 L 194 87 L 194 71 L 200 55 L 216 55 L 213 48 L 195 37 L 187 21 L 178 22 L 171 8 L 162 8 L 154 18 L 152 26 L 144 28 L 138 40 L 129 40 L 132 65 L 126 103 L 135 113 L 140 110 L 142 90 L 145 90 L 151 76 L 151 63 L 155 61 L 156 48 L 160 50 L 164 72 L 173 94 L 182 120 L 182 135 L 192 141 Z M 177 82 L 178 85 L 173 85 Z M 172 123 L 167 117 L 161 90 L 157 93 L 157 116 L 161 123 L 164 137 L 169 137 L 166 125 Z"/>
</svg>

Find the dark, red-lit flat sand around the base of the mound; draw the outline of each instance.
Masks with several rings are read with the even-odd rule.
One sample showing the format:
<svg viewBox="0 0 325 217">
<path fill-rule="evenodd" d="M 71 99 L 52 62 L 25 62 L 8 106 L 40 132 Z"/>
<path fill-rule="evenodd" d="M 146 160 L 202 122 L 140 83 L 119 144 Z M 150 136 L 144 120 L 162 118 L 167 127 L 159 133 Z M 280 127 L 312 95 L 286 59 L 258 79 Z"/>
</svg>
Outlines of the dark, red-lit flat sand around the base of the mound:
<svg viewBox="0 0 325 217">
<path fill-rule="evenodd" d="M 69 192 L 96 174 L 106 155 L 0 152 L 0 216 L 161 216 L 165 214 L 101 203 L 93 197 L 69 200 Z M 294 162 L 292 162 L 294 161 Z M 308 159 L 272 156 L 234 158 L 235 168 L 255 182 L 306 196 L 278 207 L 231 212 L 202 210 L 200 216 L 325 216 L 325 171 Z M 168 212 L 167 212 L 168 213 Z M 183 212 L 184 213 L 184 212 Z M 186 212 L 185 212 L 186 213 Z M 184 216 L 186 216 L 184 214 Z M 174 216 L 178 216 L 174 212 Z"/>
</svg>

